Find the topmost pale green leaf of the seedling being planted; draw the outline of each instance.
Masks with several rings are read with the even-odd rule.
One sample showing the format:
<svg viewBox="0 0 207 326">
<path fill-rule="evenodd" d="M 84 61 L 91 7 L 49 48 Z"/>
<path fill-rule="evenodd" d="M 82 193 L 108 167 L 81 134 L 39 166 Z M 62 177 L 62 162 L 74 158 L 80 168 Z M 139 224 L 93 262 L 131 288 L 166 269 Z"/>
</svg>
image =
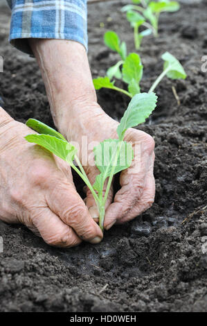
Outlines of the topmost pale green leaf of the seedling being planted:
<svg viewBox="0 0 207 326">
<path fill-rule="evenodd" d="M 116 130 L 120 140 L 123 139 L 128 128 L 145 122 L 145 119 L 150 116 L 156 107 L 156 99 L 157 96 L 154 93 L 140 93 L 132 98 Z"/>
</svg>

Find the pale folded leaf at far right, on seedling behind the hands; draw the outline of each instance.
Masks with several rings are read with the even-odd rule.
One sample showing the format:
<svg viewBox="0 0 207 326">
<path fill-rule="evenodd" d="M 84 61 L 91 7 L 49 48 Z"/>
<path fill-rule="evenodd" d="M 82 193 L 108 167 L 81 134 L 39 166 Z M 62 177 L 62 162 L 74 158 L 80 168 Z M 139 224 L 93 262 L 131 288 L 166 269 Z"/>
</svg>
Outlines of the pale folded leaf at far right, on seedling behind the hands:
<svg viewBox="0 0 207 326">
<path fill-rule="evenodd" d="M 177 58 L 174 58 L 172 54 L 169 52 L 165 52 L 162 55 L 162 59 L 165 61 L 164 62 L 164 67 L 163 69 L 168 69 L 168 78 L 171 79 L 186 79 L 186 71 L 183 69 L 181 63 Z"/>
</svg>

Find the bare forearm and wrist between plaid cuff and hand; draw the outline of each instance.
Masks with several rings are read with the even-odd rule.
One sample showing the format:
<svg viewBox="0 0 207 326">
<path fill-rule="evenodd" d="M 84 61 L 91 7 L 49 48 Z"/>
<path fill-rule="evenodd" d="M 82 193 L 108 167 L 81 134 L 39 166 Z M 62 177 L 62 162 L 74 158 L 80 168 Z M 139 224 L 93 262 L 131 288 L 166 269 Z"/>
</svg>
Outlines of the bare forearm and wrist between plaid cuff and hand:
<svg viewBox="0 0 207 326">
<path fill-rule="evenodd" d="M 96 103 L 87 52 L 82 44 L 68 40 L 29 42 L 42 72 L 53 121 L 62 132 L 77 103 Z"/>
</svg>

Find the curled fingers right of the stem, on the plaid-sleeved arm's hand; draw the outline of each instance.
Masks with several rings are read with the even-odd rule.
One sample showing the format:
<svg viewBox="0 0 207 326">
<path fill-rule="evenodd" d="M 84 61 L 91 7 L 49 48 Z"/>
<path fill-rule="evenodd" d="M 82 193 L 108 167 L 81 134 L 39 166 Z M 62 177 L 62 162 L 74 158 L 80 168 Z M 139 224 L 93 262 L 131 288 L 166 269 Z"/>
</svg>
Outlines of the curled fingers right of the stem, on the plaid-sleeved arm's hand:
<svg viewBox="0 0 207 326">
<path fill-rule="evenodd" d="M 135 166 L 120 173 L 121 189 L 106 212 L 105 225 L 108 228 L 115 221 L 125 223 L 132 220 L 154 203 L 154 139 L 141 130 L 130 129 L 126 132 L 125 141 L 137 144 L 141 152 L 134 157 Z"/>
</svg>

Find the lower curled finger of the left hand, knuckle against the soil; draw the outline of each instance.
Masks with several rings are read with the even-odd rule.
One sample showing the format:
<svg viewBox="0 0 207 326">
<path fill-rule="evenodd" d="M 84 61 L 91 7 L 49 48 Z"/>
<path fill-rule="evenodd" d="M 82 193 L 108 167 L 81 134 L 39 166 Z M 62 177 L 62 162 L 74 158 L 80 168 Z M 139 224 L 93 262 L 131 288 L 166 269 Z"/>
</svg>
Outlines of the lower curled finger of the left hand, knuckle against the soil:
<svg viewBox="0 0 207 326">
<path fill-rule="evenodd" d="M 69 225 L 64 224 L 60 218 L 55 215 L 49 208 L 43 208 L 33 214 L 33 226 L 30 230 L 37 231 L 46 243 L 57 247 L 78 246 L 81 239 L 72 230 Z"/>
</svg>

